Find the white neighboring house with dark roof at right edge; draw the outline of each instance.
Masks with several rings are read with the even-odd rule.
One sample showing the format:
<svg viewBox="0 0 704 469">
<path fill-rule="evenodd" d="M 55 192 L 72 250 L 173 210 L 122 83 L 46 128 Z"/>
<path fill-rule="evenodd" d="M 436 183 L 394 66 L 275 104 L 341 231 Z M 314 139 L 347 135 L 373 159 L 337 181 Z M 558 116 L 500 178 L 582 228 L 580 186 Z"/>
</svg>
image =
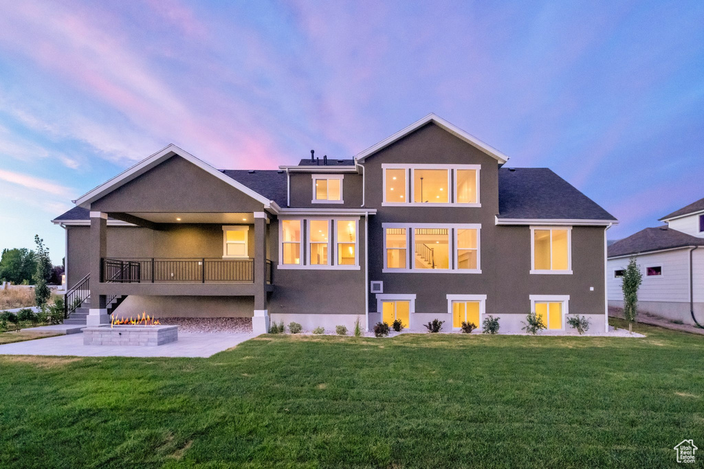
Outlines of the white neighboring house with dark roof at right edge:
<svg viewBox="0 0 704 469">
<path fill-rule="evenodd" d="M 704 198 L 662 217 L 667 225 L 646 228 L 608 248 L 609 305 L 623 307 L 621 275 L 635 257 L 643 283 L 641 311 L 672 321 L 704 321 Z"/>
</svg>

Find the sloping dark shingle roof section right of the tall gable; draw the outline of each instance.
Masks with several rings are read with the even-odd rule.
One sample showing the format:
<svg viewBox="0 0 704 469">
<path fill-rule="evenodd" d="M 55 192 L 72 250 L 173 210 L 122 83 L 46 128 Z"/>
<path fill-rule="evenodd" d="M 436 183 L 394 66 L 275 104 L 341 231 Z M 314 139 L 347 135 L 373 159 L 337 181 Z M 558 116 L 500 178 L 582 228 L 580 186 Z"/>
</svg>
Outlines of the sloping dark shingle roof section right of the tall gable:
<svg viewBox="0 0 704 469">
<path fill-rule="evenodd" d="M 548 168 L 500 168 L 498 218 L 616 221 Z"/>
</svg>

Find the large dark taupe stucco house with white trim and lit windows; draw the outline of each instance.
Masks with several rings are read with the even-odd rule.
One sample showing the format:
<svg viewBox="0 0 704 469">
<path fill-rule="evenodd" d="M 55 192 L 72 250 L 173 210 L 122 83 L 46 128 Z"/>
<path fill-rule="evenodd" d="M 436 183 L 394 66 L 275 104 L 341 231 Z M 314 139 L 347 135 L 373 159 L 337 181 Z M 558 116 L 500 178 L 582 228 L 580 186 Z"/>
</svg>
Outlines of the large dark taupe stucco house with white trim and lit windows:
<svg viewBox="0 0 704 469">
<path fill-rule="evenodd" d="M 218 170 L 170 145 L 54 220 L 68 304 L 89 297 L 72 317 L 244 316 L 263 333 L 491 314 L 520 330 L 538 311 L 553 329 L 582 314 L 603 330 L 616 220 L 550 169 L 507 160 L 432 114 L 355 158 L 278 171 Z"/>
</svg>

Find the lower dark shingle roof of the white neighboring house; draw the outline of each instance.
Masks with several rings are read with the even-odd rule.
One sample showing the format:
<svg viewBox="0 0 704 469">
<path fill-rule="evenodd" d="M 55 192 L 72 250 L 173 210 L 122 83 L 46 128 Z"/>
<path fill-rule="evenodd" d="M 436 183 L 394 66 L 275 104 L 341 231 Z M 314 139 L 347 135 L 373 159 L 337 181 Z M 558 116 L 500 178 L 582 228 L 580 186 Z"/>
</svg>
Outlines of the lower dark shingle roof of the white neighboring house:
<svg viewBox="0 0 704 469">
<path fill-rule="evenodd" d="M 704 245 L 704 238 L 696 238 L 667 226 L 658 226 L 643 229 L 628 238 L 613 243 L 608 247 L 608 257 L 702 245 Z"/>
</svg>

